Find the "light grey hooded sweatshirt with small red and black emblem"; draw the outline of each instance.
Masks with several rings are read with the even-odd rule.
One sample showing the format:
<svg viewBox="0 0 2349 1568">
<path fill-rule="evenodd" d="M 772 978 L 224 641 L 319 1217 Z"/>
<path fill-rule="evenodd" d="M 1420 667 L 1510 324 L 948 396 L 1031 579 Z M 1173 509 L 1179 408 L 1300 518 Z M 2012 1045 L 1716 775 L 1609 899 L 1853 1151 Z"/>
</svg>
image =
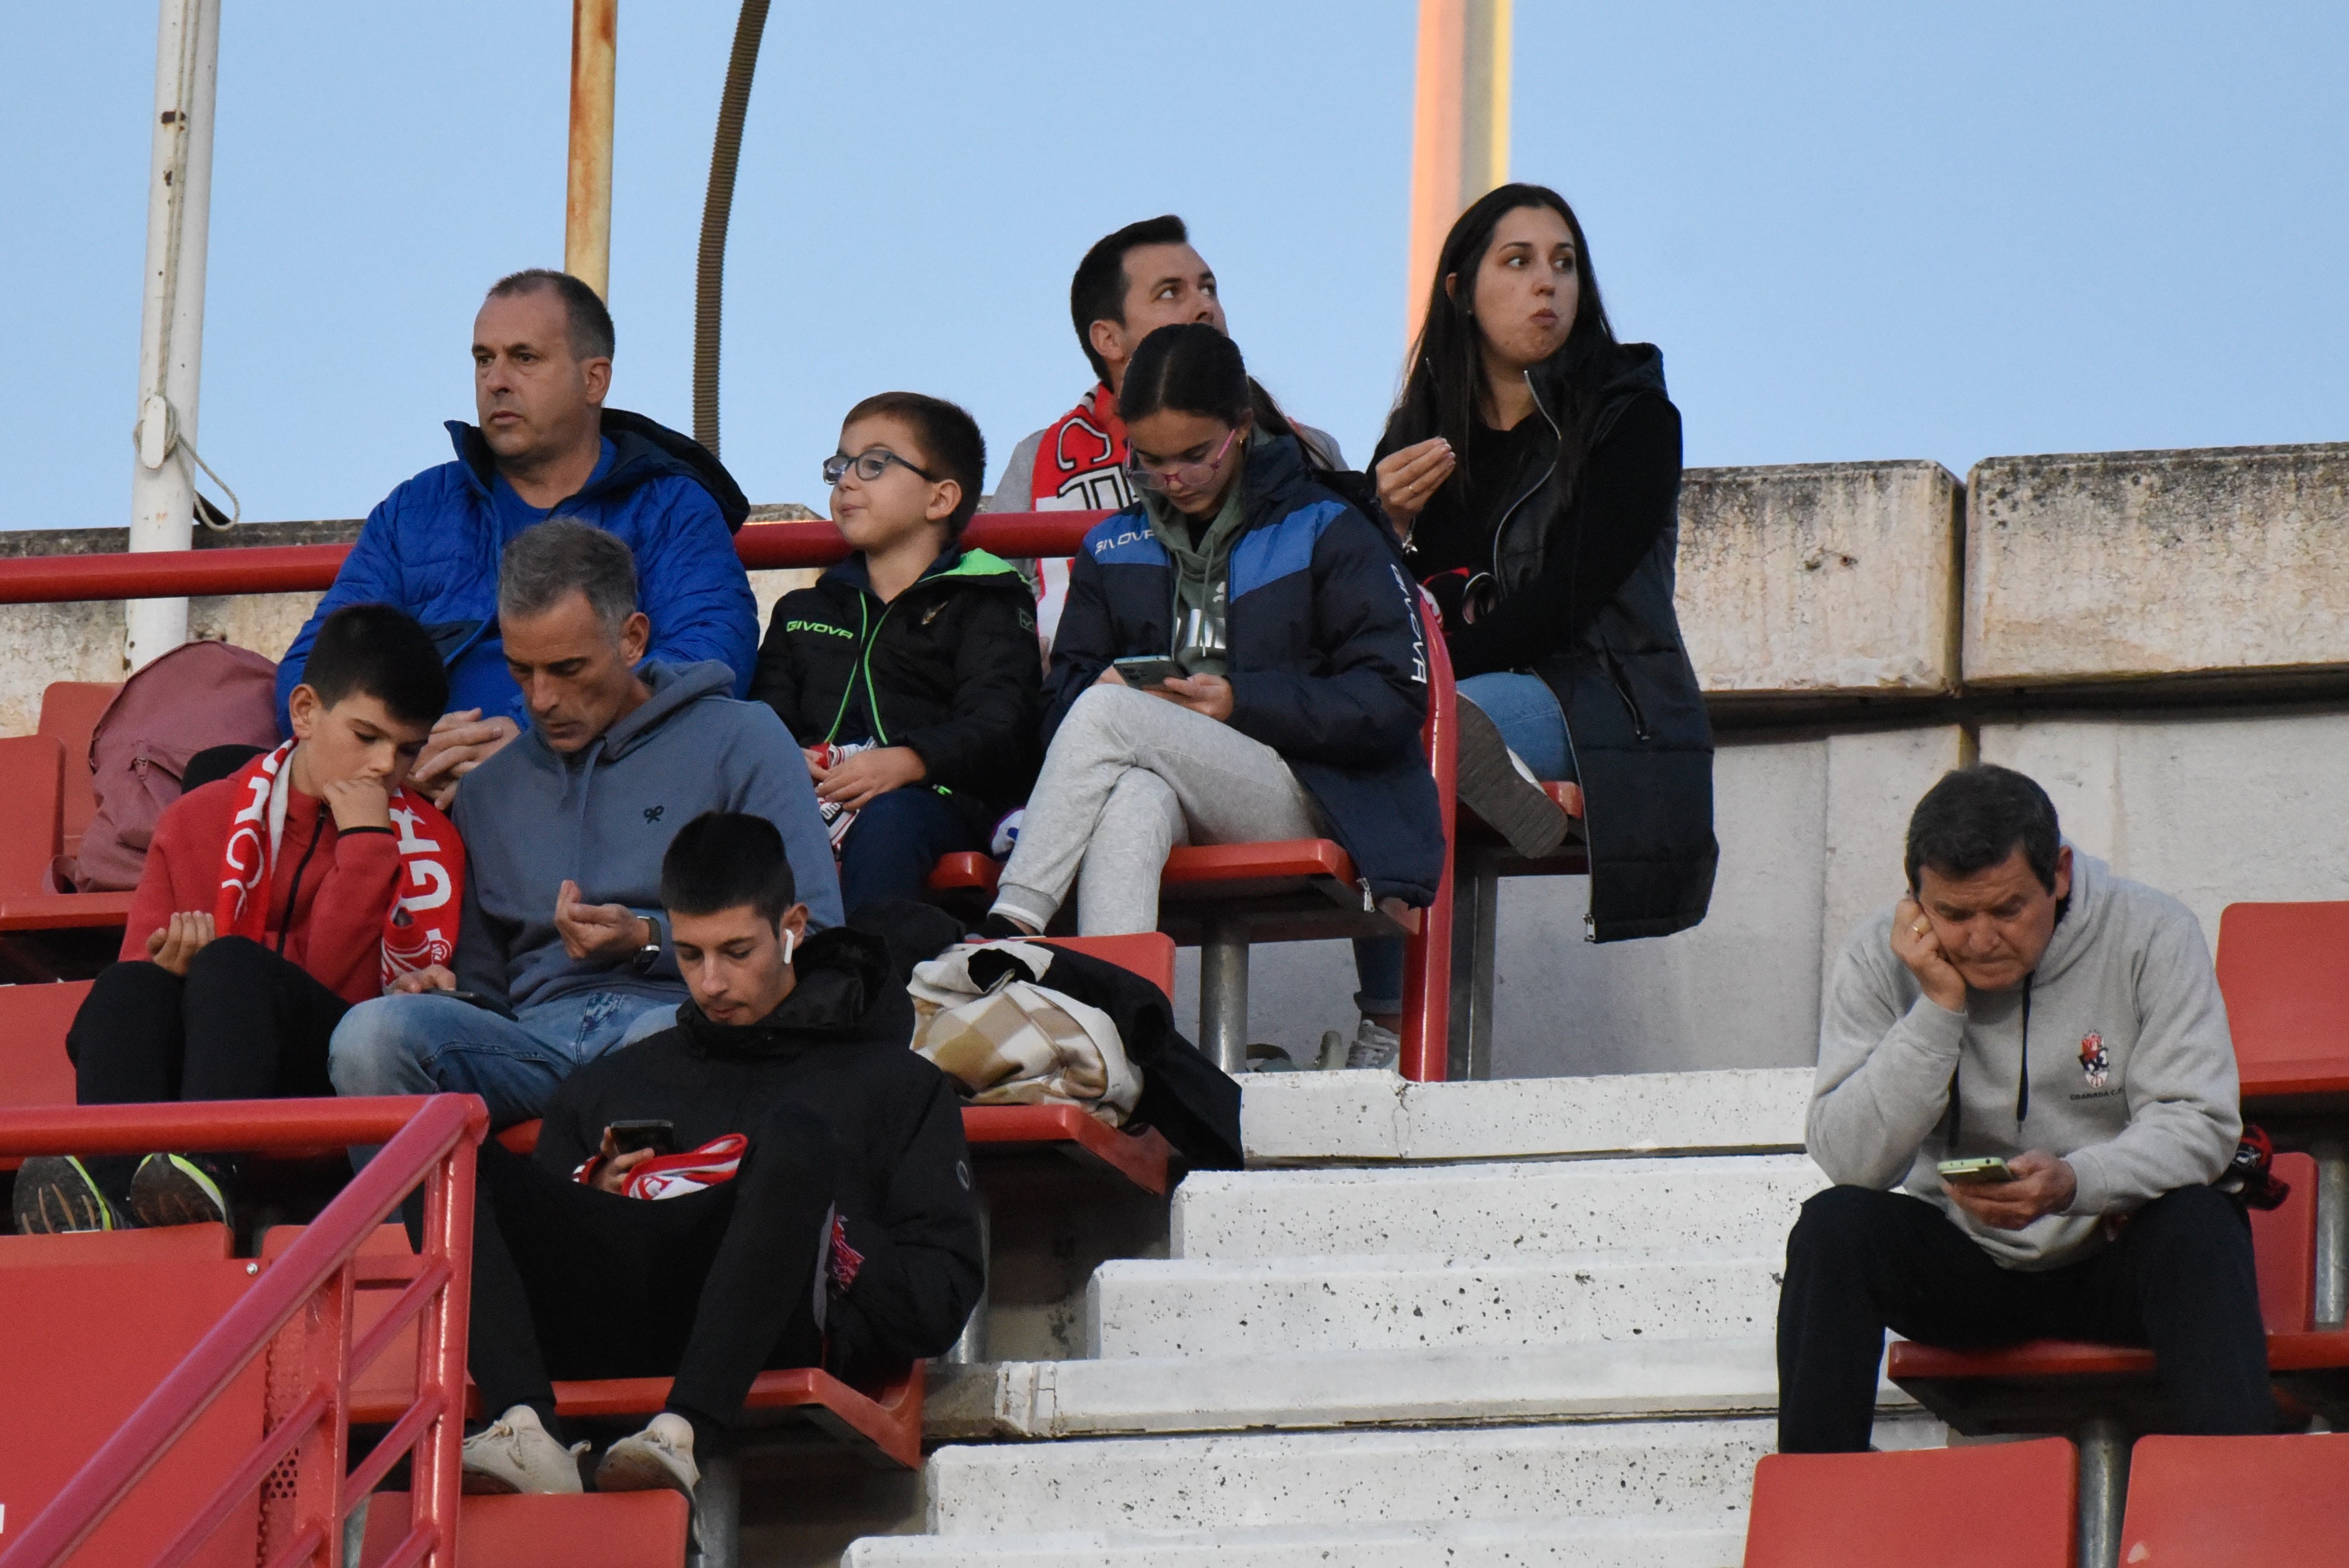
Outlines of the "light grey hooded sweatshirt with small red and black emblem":
<svg viewBox="0 0 2349 1568">
<path fill-rule="evenodd" d="M 1924 997 L 1891 929 L 1884 910 L 1851 933 L 1818 1025 L 1809 1147 L 1832 1180 L 1905 1187 L 2001 1265 L 2051 1269 L 2102 1246 L 2105 1215 L 2227 1168 L 2243 1131 L 2234 1039 L 2182 903 L 2074 851 L 2072 903 L 2030 990 L 1968 990 L 1964 1013 Z M 1936 1173 L 1943 1159 L 2027 1150 L 2067 1159 L 2079 1192 L 2022 1229 L 1978 1225 Z"/>
</svg>

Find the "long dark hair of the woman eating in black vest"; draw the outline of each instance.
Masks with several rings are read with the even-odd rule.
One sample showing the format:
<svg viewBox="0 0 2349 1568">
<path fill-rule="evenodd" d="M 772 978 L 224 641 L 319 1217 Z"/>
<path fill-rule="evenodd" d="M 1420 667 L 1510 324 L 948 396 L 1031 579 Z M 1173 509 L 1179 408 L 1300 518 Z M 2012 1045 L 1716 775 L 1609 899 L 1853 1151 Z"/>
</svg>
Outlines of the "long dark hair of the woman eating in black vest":
<svg viewBox="0 0 2349 1568">
<path fill-rule="evenodd" d="M 1379 451 L 1395 451 L 1412 442 L 1440 435 L 1452 442 L 1452 451 L 1468 458 L 1468 428 L 1485 409 L 1485 334 L 1475 324 L 1475 277 L 1492 249 L 1492 233 L 1501 219 L 1520 207 L 1548 207 L 1567 221 L 1574 235 L 1574 270 L 1581 284 L 1581 303 L 1574 308 L 1574 327 L 1564 346 L 1550 357 L 1562 367 L 1567 407 L 1550 409 L 1560 425 L 1557 475 L 1564 480 L 1560 494 L 1574 494 L 1574 480 L 1590 449 L 1590 418 L 1597 414 L 1597 386 L 1611 374 L 1614 327 L 1607 322 L 1607 306 L 1600 303 L 1600 280 L 1590 270 L 1590 242 L 1583 240 L 1583 223 L 1567 207 L 1567 197 L 1548 186 L 1501 186 L 1487 190 L 1452 223 L 1445 249 L 1435 259 L 1435 282 L 1428 289 L 1428 310 L 1412 346 L 1412 374 L 1402 383 L 1395 411 L 1386 416 L 1386 435 Z M 1447 289 L 1445 280 L 1456 277 Z"/>
</svg>

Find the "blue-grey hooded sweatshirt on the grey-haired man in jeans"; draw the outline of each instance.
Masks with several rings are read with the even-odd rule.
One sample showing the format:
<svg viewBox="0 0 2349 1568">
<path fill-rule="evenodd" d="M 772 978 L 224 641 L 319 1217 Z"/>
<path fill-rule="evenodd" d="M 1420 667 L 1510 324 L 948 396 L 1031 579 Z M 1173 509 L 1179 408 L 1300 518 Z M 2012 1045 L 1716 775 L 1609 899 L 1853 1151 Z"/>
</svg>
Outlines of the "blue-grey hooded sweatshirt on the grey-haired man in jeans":
<svg viewBox="0 0 2349 1568">
<path fill-rule="evenodd" d="M 554 893 L 568 877 L 585 903 L 660 914 L 660 856 L 702 811 L 775 823 L 808 929 L 841 924 L 839 867 L 808 762 L 775 710 L 738 703 L 733 670 L 716 661 L 653 661 L 637 675 L 653 696 L 578 752 L 557 752 L 533 724 L 456 792 L 467 858 L 460 990 L 517 1009 L 576 990 L 684 999 L 667 931 L 648 973 L 627 959 L 573 959 L 554 931 Z"/>
</svg>

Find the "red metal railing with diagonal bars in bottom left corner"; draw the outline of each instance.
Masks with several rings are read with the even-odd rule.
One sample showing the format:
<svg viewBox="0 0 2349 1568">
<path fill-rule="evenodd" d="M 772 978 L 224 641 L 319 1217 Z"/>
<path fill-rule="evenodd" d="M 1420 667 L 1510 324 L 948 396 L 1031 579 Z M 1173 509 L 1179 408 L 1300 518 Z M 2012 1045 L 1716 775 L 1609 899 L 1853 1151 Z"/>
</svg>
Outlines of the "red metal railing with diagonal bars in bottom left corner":
<svg viewBox="0 0 2349 1568">
<path fill-rule="evenodd" d="M 197 1509 L 155 1568 L 179 1568 L 284 1460 L 296 1479 L 265 1537 L 287 1537 L 265 1568 L 331 1563 L 343 1516 L 399 1458 L 413 1453 L 411 1523 L 383 1568 L 456 1568 L 458 1453 L 465 1441 L 465 1307 L 472 1281 L 472 1157 L 489 1112 L 472 1095 L 416 1100 L 190 1100 L 181 1105 L 87 1105 L 0 1114 L 7 1154 L 143 1154 L 148 1150 L 315 1150 L 383 1143 L 303 1237 L 254 1281 L 99 1453 L 66 1483 L 7 1552 L 0 1568 L 56 1568 L 103 1523 L 141 1476 L 237 1380 L 277 1345 L 294 1366 L 272 1401 L 268 1432 L 211 1502 Z M 359 1244 L 418 1185 L 425 1246 L 390 1312 L 352 1342 Z M 298 1319 L 298 1321 L 296 1321 Z M 416 1401 L 350 1469 L 350 1380 L 411 1321 Z M 282 1408 L 280 1408 L 282 1406 Z M 26 1415 L 26 1413 L 19 1413 Z"/>
</svg>

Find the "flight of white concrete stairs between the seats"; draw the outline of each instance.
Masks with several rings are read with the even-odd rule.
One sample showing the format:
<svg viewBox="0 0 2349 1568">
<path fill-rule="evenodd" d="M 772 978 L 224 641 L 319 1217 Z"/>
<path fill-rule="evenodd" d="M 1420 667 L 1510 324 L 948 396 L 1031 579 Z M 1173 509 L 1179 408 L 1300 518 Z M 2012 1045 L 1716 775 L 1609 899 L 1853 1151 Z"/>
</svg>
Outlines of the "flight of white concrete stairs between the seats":
<svg viewBox="0 0 2349 1568">
<path fill-rule="evenodd" d="M 843 1563 L 1736 1563 L 1785 1232 L 1825 1185 L 1806 1088 L 1252 1079 L 1259 1168 L 1189 1175 L 1170 1255 L 1095 1272 L 1090 1354 L 996 1363 L 928 1535 Z M 1882 1446 L 1943 1441 L 1879 1401 Z"/>
</svg>

